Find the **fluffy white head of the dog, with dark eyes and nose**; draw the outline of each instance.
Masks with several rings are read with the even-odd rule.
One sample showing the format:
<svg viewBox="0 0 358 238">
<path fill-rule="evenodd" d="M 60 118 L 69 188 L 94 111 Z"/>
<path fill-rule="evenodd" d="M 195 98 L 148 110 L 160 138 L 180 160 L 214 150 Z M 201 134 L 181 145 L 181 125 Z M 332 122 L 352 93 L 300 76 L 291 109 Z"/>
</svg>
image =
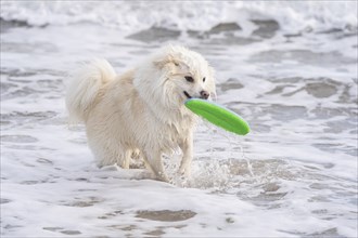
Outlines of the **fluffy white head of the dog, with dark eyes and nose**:
<svg viewBox="0 0 358 238">
<path fill-rule="evenodd" d="M 146 74 L 145 76 L 143 74 Z M 183 47 L 169 45 L 155 54 L 141 78 L 151 100 L 167 107 L 180 107 L 189 98 L 209 100 L 216 95 L 214 69 L 205 58 Z M 145 85 L 143 82 L 145 81 Z"/>
</svg>

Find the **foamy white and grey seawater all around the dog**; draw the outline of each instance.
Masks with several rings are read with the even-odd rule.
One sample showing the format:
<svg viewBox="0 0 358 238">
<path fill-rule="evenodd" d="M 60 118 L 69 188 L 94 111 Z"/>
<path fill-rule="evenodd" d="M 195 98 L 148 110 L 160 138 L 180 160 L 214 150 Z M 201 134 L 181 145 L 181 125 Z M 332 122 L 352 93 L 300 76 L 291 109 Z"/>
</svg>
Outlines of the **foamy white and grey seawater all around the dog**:
<svg viewBox="0 0 358 238">
<path fill-rule="evenodd" d="M 357 1 L 1 1 L 1 237 L 357 237 Z M 68 75 L 118 74 L 168 43 L 217 71 L 193 176 L 98 169 L 64 104 Z"/>
</svg>

